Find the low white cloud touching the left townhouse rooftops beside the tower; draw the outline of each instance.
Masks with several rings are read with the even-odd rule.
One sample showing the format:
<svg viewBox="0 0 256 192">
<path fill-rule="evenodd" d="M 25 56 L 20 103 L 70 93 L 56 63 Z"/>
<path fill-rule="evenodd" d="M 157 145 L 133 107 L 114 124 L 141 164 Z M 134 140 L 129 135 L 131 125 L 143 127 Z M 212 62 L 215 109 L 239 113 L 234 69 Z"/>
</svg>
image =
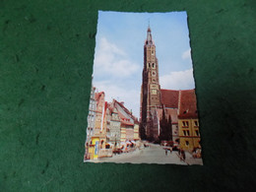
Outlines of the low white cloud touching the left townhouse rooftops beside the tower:
<svg viewBox="0 0 256 192">
<path fill-rule="evenodd" d="M 105 100 L 112 101 L 115 98 L 118 101 L 124 101 L 124 106 L 133 110 L 133 114 L 139 118 L 140 114 L 140 92 L 127 89 L 123 86 L 118 86 L 112 84 L 110 81 L 98 81 L 94 82 L 94 86 L 96 87 L 98 92 L 105 93 Z"/>
</svg>

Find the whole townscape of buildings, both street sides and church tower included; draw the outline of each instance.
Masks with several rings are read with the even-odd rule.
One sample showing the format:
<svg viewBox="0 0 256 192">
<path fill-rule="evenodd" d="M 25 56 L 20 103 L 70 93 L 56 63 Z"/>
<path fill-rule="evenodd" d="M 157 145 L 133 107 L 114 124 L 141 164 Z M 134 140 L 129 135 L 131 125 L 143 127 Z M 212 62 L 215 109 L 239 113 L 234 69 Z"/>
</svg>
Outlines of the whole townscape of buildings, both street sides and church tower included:
<svg viewBox="0 0 256 192">
<path fill-rule="evenodd" d="M 160 89 L 159 61 L 150 27 L 144 44 L 140 122 L 123 102 L 106 102 L 104 93 L 92 87 L 85 160 L 109 157 L 113 150 L 133 146 L 140 139 L 172 141 L 190 152 L 201 148 L 195 90 Z"/>
</svg>

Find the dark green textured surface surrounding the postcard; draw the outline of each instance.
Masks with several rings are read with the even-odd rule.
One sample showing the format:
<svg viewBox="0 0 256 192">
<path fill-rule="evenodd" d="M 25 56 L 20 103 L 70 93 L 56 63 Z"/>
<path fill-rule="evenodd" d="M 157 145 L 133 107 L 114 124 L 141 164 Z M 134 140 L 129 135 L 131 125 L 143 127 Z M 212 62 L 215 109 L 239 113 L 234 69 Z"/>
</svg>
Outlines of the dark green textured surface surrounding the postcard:
<svg viewBox="0 0 256 192">
<path fill-rule="evenodd" d="M 254 0 L 1 0 L 1 191 L 252 191 Z M 204 165 L 84 163 L 98 10 L 187 11 Z"/>
</svg>

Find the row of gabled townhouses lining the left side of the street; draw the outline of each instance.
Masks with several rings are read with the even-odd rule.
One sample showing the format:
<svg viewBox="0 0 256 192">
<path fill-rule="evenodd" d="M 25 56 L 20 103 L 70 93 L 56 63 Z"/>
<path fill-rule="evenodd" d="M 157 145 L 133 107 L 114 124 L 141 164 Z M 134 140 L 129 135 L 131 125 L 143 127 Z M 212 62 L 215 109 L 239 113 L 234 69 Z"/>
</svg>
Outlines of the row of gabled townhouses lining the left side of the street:
<svg viewBox="0 0 256 192">
<path fill-rule="evenodd" d="M 139 121 L 123 102 L 105 101 L 104 92 L 92 87 L 85 160 L 110 157 L 116 149 L 134 146 L 139 137 Z"/>
</svg>

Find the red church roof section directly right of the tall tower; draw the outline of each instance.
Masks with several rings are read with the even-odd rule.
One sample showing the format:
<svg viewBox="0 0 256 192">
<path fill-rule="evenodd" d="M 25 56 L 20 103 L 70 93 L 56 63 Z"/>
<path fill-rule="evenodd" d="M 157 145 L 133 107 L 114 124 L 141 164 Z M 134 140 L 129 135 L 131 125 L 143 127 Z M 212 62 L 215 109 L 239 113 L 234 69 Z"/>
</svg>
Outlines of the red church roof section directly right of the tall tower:
<svg viewBox="0 0 256 192">
<path fill-rule="evenodd" d="M 160 90 L 161 103 L 165 107 L 178 108 L 178 94 L 177 90 Z"/>
</svg>

